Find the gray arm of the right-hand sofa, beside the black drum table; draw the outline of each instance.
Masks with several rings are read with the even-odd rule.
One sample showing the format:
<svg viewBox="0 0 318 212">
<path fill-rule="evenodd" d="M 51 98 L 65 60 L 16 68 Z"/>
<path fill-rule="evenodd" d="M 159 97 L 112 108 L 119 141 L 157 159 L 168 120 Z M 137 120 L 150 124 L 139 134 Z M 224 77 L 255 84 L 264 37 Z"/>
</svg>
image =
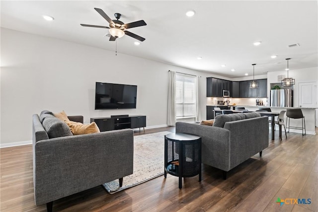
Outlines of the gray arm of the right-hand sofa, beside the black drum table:
<svg viewBox="0 0 318 212">
<path fill-rule="evenodd" d="M 230 170 L 230 131 L 224 128 L 177 122 L 176 133 L 188 133 L 202 138 L 202 163 Z"/>
</svg>

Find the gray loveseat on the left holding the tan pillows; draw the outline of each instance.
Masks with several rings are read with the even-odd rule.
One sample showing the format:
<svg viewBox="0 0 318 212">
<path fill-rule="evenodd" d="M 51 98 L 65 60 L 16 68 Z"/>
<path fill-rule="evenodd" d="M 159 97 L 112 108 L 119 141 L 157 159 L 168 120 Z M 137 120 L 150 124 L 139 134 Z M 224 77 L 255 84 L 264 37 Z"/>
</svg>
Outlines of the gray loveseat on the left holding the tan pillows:
<svg viewBox="0 0 318 212">
<path fill-rule="evenodd" d="M 82 116 L 69 116 L 83 122 Z M 43 124 L 42 124 L 43 123 Z M 56 138 L 52 138 L 56 137 Z M 33 183 L 36 205 L 53 201 L 133 173 L 131 129 L 73 136 L 50 112 L 33 115 Z"/>
</svg>

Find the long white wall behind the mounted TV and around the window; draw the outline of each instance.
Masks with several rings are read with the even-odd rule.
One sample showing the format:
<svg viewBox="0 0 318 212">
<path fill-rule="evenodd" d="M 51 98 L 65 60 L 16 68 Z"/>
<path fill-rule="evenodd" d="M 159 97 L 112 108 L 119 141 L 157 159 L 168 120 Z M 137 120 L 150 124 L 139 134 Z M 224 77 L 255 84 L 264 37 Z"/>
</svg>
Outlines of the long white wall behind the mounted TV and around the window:
<svg viewBox="0 0 318 212">
<path fill-rule="evenodd" d="M 0 144 L 32 140 L 32 114 L 42 110 L 83 115 L 86 123 L 146 115 L 148 127 L 166 126 L 168 70 L 201 76 L 205 119 L 209 73 L 1 28 Z M 138 85 L 137 108 L 94 110 L 96 81 Z"/>
</svg>

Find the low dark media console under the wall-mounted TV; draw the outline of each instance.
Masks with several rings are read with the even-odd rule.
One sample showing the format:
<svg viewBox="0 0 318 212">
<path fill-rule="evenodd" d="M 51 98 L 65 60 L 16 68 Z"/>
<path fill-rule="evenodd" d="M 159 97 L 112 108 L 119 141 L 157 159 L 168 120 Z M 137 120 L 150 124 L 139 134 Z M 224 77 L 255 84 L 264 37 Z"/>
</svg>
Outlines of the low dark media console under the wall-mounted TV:
<svg viewBox="0 0 318 212">
<path fill-rule="evenodd" d="M 118 115 L 110 117 L 98 117 L 90 118 L 90 123 L 95 122 L 98 126 L 100 132 L 111 131 L 111 130 L 121 130 L 127 128 L 144 128 L 146 127 L 146 116 L 128 116 L 128 115 Z"/>
</svg>

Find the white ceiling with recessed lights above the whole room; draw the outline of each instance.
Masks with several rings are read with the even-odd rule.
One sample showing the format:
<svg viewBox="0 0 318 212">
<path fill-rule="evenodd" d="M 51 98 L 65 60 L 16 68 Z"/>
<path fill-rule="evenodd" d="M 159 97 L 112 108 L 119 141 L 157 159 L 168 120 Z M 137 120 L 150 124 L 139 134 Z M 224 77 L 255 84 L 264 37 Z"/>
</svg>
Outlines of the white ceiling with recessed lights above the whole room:
<svg viewBox="0 0 318 212">
<path fill-rule="evenodd" d="M 104 37 L 108 26 L 94 7 L 124 23 L 145 20 L 147 26 L 129 31 L 146 40 L 139 46 L 127 35 L 117 40 L 120 54 L 133 55 L 226 77 L 255 75 L 289 68 L 318 67 L 318 3 L 304 1 L 173 0 L 1 0 L 1 27 L 113 51 L 116 42 Z M 185 12 L 195 11 L 193 17 Z M 55 18 L 48 22 L 42 15 Z M 261 41 L 255 47 L 253 42 Z M 299 47 L 288 45 L 299 43 Z M 271 55 L 277 55 L 271 59 Z M 197 57 L 202 57 L 198 60 Z M 278 63 L 278 64 L 277 64 Z M 221 65 L 226 64 L 226 67 Z M 235 69 L 236 71 L 231 71 Z"/>
</svg>

